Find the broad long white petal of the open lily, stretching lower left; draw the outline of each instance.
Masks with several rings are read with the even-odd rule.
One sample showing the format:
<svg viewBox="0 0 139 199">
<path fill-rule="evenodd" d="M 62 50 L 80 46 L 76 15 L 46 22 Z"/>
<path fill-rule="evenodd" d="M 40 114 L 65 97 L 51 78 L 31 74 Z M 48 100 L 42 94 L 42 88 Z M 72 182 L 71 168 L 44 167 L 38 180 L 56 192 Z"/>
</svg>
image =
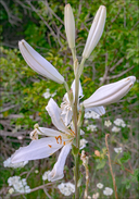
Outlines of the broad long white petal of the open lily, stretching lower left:
<svg viewBox="0 0 139 199">
<path fill-rule="evenodd" d="M 37 160 L 50 157 L 58 151 L 63 145 L 56 142 L 54 137 L 33 140 L 27 147 L 21 147 L 11 157 L 11 162 L 22 162 L 27 160 Z"/>
</svg>

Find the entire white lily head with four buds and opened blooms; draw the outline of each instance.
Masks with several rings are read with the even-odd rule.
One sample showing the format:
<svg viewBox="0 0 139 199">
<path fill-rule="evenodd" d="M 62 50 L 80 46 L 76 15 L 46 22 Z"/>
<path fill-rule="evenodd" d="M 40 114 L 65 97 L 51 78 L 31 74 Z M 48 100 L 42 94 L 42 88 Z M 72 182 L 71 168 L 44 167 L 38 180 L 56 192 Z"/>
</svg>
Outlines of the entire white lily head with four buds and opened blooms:
<svg viewBox="0 0 139 199">
<path fill-rule="evenodd" d="M 66 158 L 72 149 L 74 138 L 77 139 L 77 135 L 75 134 L 76 124 L 75 121 L 72 121 L 74 120 L 73 107 L 75 101 L 77 101 L 78 113 L 80 112 L 81 108 L 84 108 L 85 112 L 94 111 L 99 115 L 102 115 L 105 113 L 103 105 L 109 105 L 123 98 L 129 91 L 136 80 L 136 77 L 129 76 L 116 83 L 104 85 L 97 89 L 97 91 L 88 99 L 80 102 L 80 99 L 84 97 L 84 95 L 79 77 L 84 70 L 84 63 L 86 59 L 89 58 L 91 51 L 94 49 L 102 36 L 106 17 L 106 9 L 104 5 L 101 5 L 94 16 L 83 52 L 83 60 L 80 64 L 78 64 L 76 59 L 75 20 L 70 4 L 65 5 L 64 14 L 66 37 L 74 60 L 75 80 L 73 80 L 71 86 L 72 92 L 68 89 L 64 77 L 50 62 L 36 52 L 25 40 L 18 42 L 23 58 L 34 71 L 43 77 L 50 78 L 59 84 L 64 84 L 66 88 L 66 94 L 64 95 L 61 108 L 58 107 L 56 102 L 52 98 L 49 100 L 48 105 L 46 107 L 46 110 L 48 111 L 56 129 L 45 128 L 35 125 L 35 129 L 30 133 L 30 138 L 33 139 L 30 144 L 27 147 L 20 148 L 11 157 L 12 163 L 17 163 L 28 160 L 48 158 L 61 149 L 53 170 L 48 173 L 48 181 L 50 182 L 63 178 L 63 170 Z M 38 139 L 38 135 L 45 135 L 47 137 Z"/>
</svg>

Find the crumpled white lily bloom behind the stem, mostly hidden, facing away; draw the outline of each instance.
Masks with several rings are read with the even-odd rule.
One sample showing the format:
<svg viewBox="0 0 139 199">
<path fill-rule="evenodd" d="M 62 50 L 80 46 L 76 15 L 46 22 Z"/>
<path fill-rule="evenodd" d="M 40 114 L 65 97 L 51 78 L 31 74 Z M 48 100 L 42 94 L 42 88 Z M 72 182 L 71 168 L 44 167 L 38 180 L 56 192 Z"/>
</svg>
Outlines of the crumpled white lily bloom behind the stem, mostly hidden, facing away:
<svg viewBox="0 0 139 199">
<path fill-rule="evenodd" d="M 75 80 L 73 82 L 72 86 L 72 91 L 73 91 L 73 97 L 75 99 Z M 84 97 L 83 95 L 83 88 L 81 88 L 81 84 L 79 82 L 79 91 L 78 91 L 78 109 L 79 109 L 79 100 Z M 61 103 L 61 110 L 62 110 L 62 119 L 65 123 L 65 125 L 68 125 L 71 120 L 72 120 L 72 115 L 73 115 L 73 112 L 72 112 L 72 107 L 71 107 L 71 103 L 70 103 L 70 99 L 68 99 L 68 95 L 67 92 L 64 95 L 64 98 L 63 98 L 63 102 Z M 102 115 L 105 113 L 105 110 L 104 108 L 101 105 L 101 107 L 91 107 L 91 108 L 86 108 L 85 107 L 85 112 L 88 112 L 88 111 L 94 111 L 96 113 L 98 113 L 99 115 Z"/>
</svg>

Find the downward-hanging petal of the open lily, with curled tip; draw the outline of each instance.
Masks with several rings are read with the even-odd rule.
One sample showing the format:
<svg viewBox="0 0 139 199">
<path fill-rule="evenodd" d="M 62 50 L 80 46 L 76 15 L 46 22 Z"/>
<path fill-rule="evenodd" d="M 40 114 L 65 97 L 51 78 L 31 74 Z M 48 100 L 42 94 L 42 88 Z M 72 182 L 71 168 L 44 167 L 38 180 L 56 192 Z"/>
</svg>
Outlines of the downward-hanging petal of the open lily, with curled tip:
<svg viewBox="0 0 139 199">
<path fill-rule="evenodd" d="M 70 153 L 71 148 L 72 148 L 72 144 L 67 144 L 62 148 L 53 170 L 48 174 L 48 181 L 54 182 L 64 177 L 63 170 L 64 170 L 65 161 Z"/>
</svg>

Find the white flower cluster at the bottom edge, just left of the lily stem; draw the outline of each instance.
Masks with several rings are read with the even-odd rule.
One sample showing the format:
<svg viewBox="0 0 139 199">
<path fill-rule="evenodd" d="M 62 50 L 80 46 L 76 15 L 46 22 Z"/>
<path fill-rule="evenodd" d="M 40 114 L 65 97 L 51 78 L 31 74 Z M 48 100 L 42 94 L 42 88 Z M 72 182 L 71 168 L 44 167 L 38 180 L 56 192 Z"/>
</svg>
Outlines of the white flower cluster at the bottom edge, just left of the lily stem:
<svg viewBox="0 0 139 199">
<path fill-rule="evenodd" d="M 72 183 L 61 183 L 58 188 L 64 196 L 70 196 L 75 192 L 75 185 Z"/>
</svg>

